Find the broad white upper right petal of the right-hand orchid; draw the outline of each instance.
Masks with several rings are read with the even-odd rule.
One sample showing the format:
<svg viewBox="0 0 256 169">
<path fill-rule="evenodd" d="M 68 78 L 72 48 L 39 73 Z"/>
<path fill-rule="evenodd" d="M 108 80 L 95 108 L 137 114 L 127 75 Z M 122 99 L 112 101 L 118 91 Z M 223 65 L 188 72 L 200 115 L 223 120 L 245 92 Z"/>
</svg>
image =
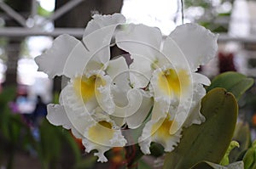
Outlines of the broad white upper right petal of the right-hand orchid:
<svg viewBox="0 0 256 169">
<path fill-rule="evenodd" d="M 169 35 L 189 60 L 192 70 L 197 70 L 199 65 L 205 65 L 215 57 L 218 36 L 211 31 L 196 24 L 179 25 Z"/>
</svg>

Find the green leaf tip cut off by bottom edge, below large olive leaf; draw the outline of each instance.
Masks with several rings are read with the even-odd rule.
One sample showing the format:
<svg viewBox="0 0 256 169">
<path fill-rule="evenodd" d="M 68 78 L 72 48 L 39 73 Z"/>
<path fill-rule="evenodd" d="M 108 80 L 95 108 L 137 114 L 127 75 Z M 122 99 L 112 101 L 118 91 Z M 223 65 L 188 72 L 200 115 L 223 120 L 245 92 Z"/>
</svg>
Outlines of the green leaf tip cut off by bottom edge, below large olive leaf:
<svg viewBox="0 0 256 169">
<path fill-rule="evenodd" d="M 192 166 L 191 169 L 243 169 L 243 162 L 237 161 L 228 166 L 221 166 L 209 161 L 201 161 L 195 166 Z"/>
</svg>

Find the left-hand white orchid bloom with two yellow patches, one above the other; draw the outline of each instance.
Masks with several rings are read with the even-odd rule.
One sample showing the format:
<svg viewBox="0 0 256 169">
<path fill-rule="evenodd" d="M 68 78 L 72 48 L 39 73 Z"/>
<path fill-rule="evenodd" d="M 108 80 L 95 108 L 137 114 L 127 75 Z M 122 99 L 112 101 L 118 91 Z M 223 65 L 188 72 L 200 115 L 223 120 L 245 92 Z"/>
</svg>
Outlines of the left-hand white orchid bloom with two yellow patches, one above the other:
<svg viewBox="0 0 256 169">
<path fill-rule="evenodd" d="M 110 60 L 110 42 L 116 27 L 125 23 L 121 14 L 93 16 L 82 41 L 61 35 L 45 54 L 35 60 L 38 70 L 49 77 L 67 76 L 60 104 L 49 104 L 47 119 L 55 126 L 71 129 L 83 139 L 85 150 L 97 149 L 98 161 L 108 161 L 104 153 L 125 146 L 126 140 L 116 122 L 111 93 L 113 77 L 128 70 L 125 59 Z M 118 63 L 118 64 L 117 64 Z"/>
</svg>

